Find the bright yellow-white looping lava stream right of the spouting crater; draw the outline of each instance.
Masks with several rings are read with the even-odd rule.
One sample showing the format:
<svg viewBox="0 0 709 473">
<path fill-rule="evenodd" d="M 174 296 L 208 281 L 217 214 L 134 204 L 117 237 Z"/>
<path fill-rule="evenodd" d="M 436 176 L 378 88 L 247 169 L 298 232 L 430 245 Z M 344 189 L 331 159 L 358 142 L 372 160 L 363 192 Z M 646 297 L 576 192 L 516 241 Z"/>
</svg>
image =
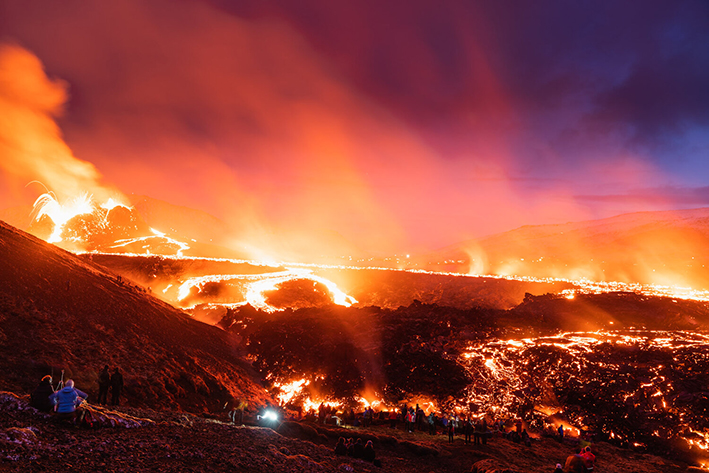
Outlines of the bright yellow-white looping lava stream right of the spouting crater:
<svg viewBox="0 0 709 473">
<path fill-rule="evenodd" d="M 250 275 L 208 275 L 190 278 L 183 282 L 179 289 L 177 300 L 184 301 L 191 293 L 193 288 L 200 289 L 206 283 L 223 283 L 228 281 L 244 281 L 246 283 L 245 303 L 250 304 L 256 309 L 265 312 L 275 312 L 279 309 L 272 306 L 266 300 L 266 293 L 269 291 L 277 291 L 279 287 L 287 281 L 295 281 L 299 279 L 310 280 L 320 283 L 327 288 L 328 295 L 332 302 L 337 305 L 350 307 L 356 304 L 357 300 L 345 294 L 332 281 L 313 274 L 311 270 L 304 268 L 286 268 L 285 271 L 266 274 L 250 274 Z"/>
</svg>

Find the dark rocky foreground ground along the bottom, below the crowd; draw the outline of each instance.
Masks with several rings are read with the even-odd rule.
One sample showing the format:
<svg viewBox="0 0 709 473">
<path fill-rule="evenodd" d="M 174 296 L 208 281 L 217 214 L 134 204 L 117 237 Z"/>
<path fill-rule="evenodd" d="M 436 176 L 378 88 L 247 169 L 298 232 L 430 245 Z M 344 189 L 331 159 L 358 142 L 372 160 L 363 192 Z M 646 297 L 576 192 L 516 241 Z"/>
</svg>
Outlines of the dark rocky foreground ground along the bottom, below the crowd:
<svg viewBox="0 0 709 473">
<path fill-rule="evenodd" d="M 311 422 L 264 427 L 188 413 L 128 407 L 92 408 L 94 427 L 57 424 L 27 405 L 27 396 L 0 392 L 2 471 L 167 472 L 548 472 L 571 455 L 576 442 L 534 439 L 531 447 L 502 438 L 486 445 L 451 443 L 430 435 L 388 428 L 340 428 Z M 371 440 L 381 466 L 334 453 L 339 437 Z M 597 469 L 631 473 L 679 473 L 687 464 L 656 455 L 594 445 Z"/>
</svg>

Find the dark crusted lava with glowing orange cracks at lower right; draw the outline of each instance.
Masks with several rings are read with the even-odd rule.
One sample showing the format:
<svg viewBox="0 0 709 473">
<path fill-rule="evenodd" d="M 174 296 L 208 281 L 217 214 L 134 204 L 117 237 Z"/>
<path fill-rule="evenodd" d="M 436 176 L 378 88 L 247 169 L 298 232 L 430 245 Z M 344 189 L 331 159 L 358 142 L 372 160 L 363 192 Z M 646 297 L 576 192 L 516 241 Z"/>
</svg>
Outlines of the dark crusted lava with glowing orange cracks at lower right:
<svg viewBox="0 0 709 473">
<path fill-rule="evenodd" d="M 703 416 L 693 412 L 693 403 L 684 399 L 688 396 L 680 386 L 684 381 L 676 376 L 678 369 L 692 373 L 709 362 L 709 336 L 705 333 L 567 332 L 464 343 L 459 362 L 475 381 L 468 397 L 458 401 L 462 405 L 475 404 L 482 411 L 510 415 L 522 405 L 533 404 L 536 412 L 544 414 L 543 422 L 551 413 L 567 416 L 569 421 L 557 419 L 555 426 L 563 424 L 572 433 L 589 427 L 602 429 L 611 439 L 644 446 L 633 438 L 642 429 L 623 427 L 627 413 L 623 419 L 599 424 L 600 417 L 609 415 L 606 406 L 615 403 L 657 426 L 650 429 L 651 436 L 679 437 L 689 448 L 709 450 L 709 427 Z M 655 361 L 658 357 L 664 361 Z M 564 407 L 555 392 L 577 395 L 586 407 Z M 575 403 L 581 405 L 581 401 Z M 593 409 L 600 409 L 602 416 Z M 596 420 L 589 426 L 587 419 Z"/>
</svg>

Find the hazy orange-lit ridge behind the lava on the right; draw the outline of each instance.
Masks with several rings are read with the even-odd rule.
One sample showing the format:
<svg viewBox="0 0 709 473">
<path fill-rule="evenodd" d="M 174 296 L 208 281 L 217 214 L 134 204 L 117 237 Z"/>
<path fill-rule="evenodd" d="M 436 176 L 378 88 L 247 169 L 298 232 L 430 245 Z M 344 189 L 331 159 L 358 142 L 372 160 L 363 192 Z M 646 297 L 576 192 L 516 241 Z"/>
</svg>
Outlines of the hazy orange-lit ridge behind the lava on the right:
<svg viewBox="0 0 709 473">
<path fill-rule="evenodd" d="M 524 226 L 419 258 L 477 274 L 709 288 L 709 208 Z"/>
</svg>

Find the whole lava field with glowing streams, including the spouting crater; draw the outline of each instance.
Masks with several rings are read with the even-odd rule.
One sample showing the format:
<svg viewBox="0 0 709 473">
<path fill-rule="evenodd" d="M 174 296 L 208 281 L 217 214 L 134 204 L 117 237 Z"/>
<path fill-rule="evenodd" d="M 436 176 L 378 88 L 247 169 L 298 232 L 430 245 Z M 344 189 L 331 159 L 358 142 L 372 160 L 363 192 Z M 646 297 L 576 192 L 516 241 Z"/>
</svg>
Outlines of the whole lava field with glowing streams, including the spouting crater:
<svg viewBox="0 0 709 473">
<path fill-rule="evenodd" d="M 29 230 L 234 335 L 285 409 L 403 401 L 675 457 L 709 449 L 709 291 L 442 273 L 411 255 L 376 267 L 219 258 L 87 196 L 40 196 Z"/>
</svg>

